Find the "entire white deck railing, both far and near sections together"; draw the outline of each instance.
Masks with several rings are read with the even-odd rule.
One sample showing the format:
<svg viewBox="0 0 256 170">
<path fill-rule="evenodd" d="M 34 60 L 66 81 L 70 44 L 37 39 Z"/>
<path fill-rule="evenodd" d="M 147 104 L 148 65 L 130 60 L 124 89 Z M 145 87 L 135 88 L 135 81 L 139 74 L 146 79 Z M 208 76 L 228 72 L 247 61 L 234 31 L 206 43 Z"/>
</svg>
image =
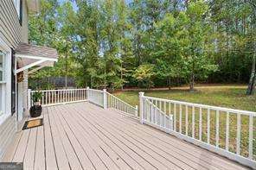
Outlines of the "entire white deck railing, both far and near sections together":
<svg viewBox="0 0 256 170">
<path fill-rule="evenodd" d="M 89 101 L 138 117 L 138 107 L 106 90 L 67 89 L 41 91 L 42 105 Z M 35 91 L 29 91 L 29 107 Z M 139 95 L 140 122 L 207 148 L 231 160 L 256 168 L 256 112 L 192 104 Z"/>
</svg>

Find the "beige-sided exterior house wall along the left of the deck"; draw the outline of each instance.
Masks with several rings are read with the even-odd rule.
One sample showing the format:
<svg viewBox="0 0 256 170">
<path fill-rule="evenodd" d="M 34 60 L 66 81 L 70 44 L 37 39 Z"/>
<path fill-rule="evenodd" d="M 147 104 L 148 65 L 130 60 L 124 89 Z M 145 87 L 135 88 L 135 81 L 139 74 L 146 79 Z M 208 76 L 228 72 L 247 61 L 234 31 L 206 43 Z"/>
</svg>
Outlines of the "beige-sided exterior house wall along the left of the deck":
<svg viewBox="0 0 256 170">
<path fill-rule="evenodd" d="M 20 42 L 28 43 L 29 10 L 27 0 L 22 0 L 22 24 L 19 22 L 13 0 L 0 0 L 0 42 L 3 41 L 9 52 L 15 49 Z M 0 44 L 2 45 L 2 44 Z M 16 132 L 15 115 L 11 116 L 11 54 L 6 63 L 6 107 L 5 116 L 0 116 L 0 161 L 5 149 L 10 145 Z M 28 72 L 24 73 L 24 80 L 18 86 L 18 120 L 22 120 L 23 108 L 27 104 Z"/>
</svg>

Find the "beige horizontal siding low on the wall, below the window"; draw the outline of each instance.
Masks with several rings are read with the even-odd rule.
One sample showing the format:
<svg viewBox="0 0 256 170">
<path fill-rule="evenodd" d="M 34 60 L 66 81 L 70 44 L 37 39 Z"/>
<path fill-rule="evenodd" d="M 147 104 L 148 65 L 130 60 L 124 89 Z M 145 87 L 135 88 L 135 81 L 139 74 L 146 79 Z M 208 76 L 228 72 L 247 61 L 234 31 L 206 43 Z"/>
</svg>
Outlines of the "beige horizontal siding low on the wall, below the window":
<svg viewBox="0 0 256 170">
<path fill-rule="evenodd" d="M 15 133 L 15 116 L 10 116 L 0 125 L 0 162 L 3 159 L 4 152 L 12 143 Z"/>
</svg>

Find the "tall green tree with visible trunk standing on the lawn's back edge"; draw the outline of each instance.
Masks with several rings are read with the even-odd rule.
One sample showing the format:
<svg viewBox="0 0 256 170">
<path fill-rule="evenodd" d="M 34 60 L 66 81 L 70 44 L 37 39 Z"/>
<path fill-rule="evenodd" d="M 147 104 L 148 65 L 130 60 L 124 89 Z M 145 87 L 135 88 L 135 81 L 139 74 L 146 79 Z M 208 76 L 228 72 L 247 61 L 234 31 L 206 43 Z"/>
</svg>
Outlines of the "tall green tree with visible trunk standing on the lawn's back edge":
<svg viewBox="0 0 256 170">
<path fill-rule="evenodd" d="M 186 15 L 188 46 L 185 49 L 184 69 L 189 78 L 189 89 L 194 90 L 195 79 L 207 78 L 210 72 L 217 70 L 208 56 L 208 39 L 210 38 L 208 22 L 208 5 L 203 1 L 189 3 Z"/>
</svg>

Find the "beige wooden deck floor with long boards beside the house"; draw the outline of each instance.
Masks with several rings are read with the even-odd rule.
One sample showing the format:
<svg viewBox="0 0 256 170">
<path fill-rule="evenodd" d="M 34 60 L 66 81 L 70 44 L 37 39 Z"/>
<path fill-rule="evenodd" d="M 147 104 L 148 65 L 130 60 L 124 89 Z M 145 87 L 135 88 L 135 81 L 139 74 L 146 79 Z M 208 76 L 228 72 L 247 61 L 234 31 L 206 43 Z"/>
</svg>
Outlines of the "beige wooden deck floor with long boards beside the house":
<svg viewBox="0 0 256 170">
<path fill-rule="evenodd" d="M 24 169 L 247 169 L 115 110 L 84 102 L 43 109 L 44 125 L 20 132 L 5 161 Z"/>
</svg>

